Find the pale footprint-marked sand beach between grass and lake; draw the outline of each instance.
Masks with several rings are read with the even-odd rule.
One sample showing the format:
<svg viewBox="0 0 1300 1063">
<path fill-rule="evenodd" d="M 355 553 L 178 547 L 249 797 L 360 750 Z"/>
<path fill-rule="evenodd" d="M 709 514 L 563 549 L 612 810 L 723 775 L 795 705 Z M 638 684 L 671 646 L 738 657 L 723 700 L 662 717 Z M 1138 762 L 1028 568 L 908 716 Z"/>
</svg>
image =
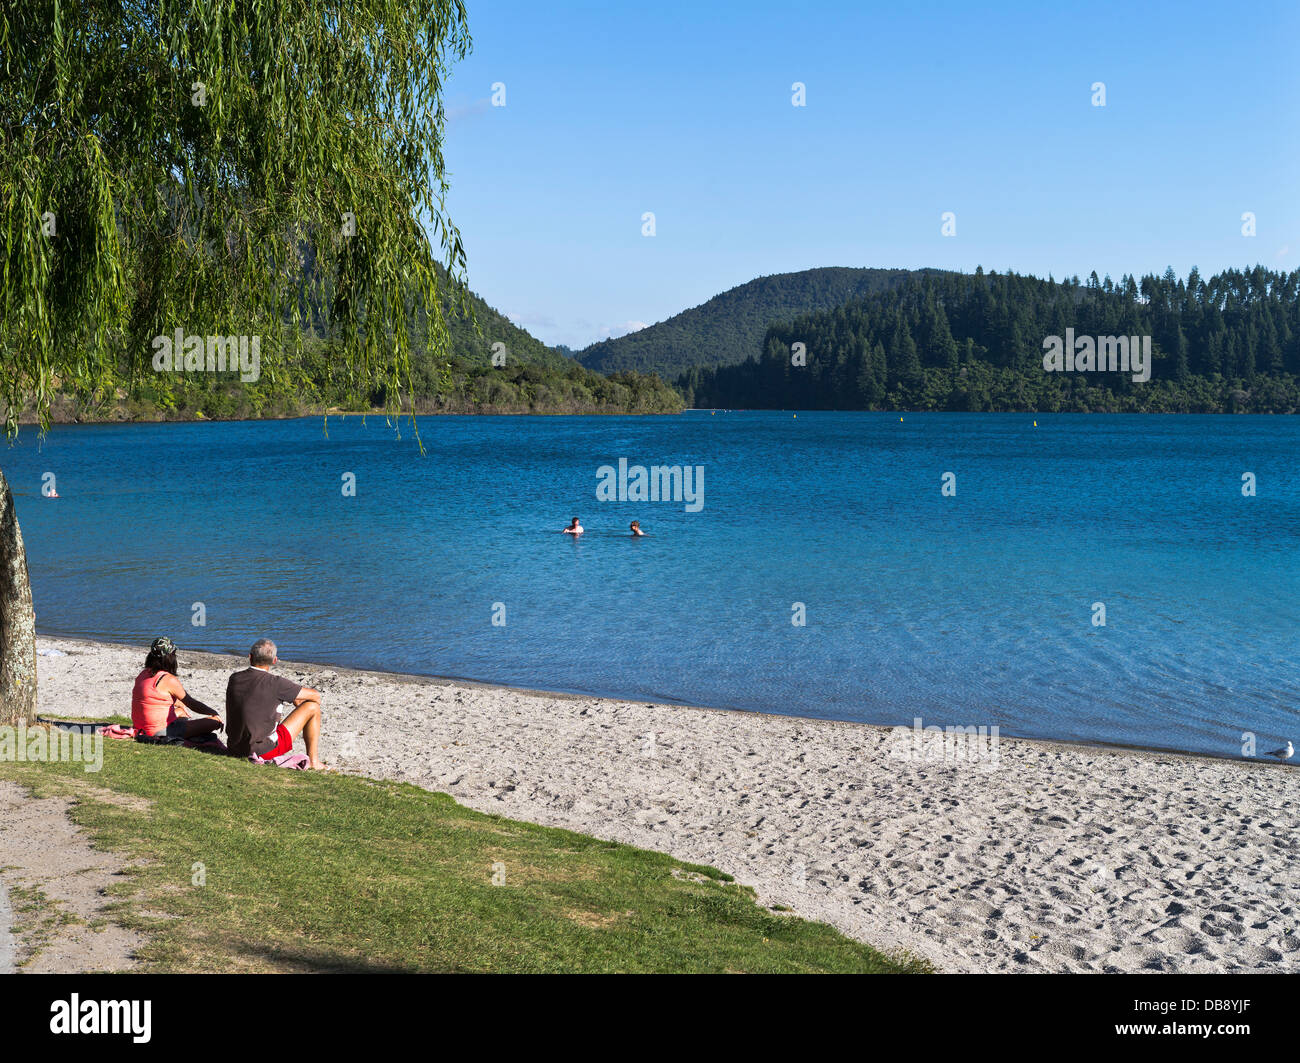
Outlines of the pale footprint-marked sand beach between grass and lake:
<svg viewBox="0 0 1300 1063">
<path fill-rule="evenodd" d="M 68 654 L 40 658 L 42 712 L 129 712 L 143 648 L 40 646 Z M 221 707 L 240 665 L 181 671 Z M 712 864 L 945 971 L 1300 969 L 1291 765 L 1008 738 L 992 771 L 910 764 L 883 728 L 278 671 L 325 691 L 339 768 Z"/>
</svg>

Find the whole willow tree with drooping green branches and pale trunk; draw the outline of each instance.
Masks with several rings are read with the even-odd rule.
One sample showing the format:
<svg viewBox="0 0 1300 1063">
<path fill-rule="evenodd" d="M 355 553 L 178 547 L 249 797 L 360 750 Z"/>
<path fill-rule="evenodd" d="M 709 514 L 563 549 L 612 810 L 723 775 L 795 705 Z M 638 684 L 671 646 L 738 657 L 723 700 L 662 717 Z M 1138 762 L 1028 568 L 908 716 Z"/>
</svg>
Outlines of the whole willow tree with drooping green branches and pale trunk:
<svg viewBox="0 0 1300 1063">
<path fill-rule="evenodd" d="M 464 273 L 442 86 L 468 48 L 460 0 L 5 0 L 10 442 L 56 392 L 156 373 L 177 329 L 259 337 L 243 386 L 291 383 L 308 311 L 338 352 L 329 383 L 398 412 L 412 330 L 447 351 L 439 266 Z M 0 473 L 0 721 L 34 710 L 34 630 Z"/>
</svg>

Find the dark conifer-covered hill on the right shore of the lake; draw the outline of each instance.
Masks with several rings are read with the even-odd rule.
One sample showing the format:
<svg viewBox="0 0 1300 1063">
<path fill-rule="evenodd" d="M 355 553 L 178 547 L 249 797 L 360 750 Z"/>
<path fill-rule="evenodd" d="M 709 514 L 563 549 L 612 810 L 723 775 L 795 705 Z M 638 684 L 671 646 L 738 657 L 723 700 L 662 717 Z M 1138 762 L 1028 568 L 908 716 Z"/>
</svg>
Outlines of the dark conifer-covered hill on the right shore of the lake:
<svg viewBox="0 0 1300 1063">
<path fill-rule="evenodd" d="M 1044 340 L 1150 337 L 1134 373 L 1046 372 Z M 805 344 L 806 365 L 792 364 Z M 689 405 L 793 409 L 1300 409 L 1300 270 L 1209 279 L 931 273 L 766 330 L 740 365 L 677 379 Z"/>
</svg>

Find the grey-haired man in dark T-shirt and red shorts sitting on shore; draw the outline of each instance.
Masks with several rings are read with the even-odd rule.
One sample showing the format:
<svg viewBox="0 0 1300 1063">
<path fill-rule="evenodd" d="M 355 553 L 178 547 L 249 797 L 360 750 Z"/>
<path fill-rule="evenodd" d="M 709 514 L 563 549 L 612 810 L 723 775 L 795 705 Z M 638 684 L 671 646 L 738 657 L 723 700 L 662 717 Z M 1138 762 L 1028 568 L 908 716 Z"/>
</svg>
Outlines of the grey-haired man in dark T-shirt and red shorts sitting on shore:
<svg viewBox="0 0 1300 1063">
<path fill-rule="evenodd" d="M 276 643 L 259 638 L 248 651 L 248 664 L 226 684 L 226 737 L 234 756 L 259 756 L 274 760 L 294 749 L 302 734 L 312 768 L 324 769 L 320 759 L 321 695 L 309 686 L 299 686 L 283 676 L 270 674 L 277 661 Z M 280 706 L 292 702 L 294 708 L 283 720 Z"/>
</svg>

